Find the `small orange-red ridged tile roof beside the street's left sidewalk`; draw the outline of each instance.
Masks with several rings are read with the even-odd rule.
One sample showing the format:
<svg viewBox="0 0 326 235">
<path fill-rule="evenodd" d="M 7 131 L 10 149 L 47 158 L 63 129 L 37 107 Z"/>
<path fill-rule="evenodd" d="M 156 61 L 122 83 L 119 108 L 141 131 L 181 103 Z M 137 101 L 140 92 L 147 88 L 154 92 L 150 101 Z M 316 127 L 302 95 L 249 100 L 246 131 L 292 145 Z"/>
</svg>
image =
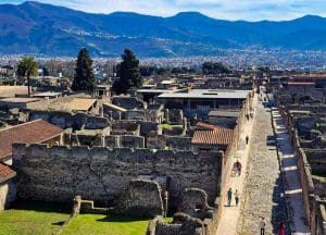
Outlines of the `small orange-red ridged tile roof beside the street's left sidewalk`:
<svg viewBox="0 0 326 235">
<path fill-rule="evenodd" d="M 233 140 L 234 129 L 228 129 L 205 123 L 197 123 L 197 126 L 209 128 L 209 131 L 196 131 L 193 133 L 191 144 L 228 145 Z"/>
</svg>

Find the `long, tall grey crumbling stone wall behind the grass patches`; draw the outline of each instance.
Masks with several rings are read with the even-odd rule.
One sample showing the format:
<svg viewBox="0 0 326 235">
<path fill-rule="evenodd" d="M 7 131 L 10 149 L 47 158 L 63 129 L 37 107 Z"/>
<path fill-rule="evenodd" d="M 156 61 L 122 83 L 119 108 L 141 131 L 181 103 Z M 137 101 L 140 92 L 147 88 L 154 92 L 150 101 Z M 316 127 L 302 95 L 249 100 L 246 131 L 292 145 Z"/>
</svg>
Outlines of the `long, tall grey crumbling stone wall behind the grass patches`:
<svg viewBox="0 0 326 235">
<path fill-rule="evenodd" d="M 13 146 L 18 197 L 46 201 L 72 201 L 80 195 L 101 205 L 114 205 L 131 180 L 156 174 L 171 178 L 171 208 L 176 207 L 187 187 L 203 189 L 209 205 L 213 205 L 220 194 L 222 162 L 223 152 Z"/>
</svg>

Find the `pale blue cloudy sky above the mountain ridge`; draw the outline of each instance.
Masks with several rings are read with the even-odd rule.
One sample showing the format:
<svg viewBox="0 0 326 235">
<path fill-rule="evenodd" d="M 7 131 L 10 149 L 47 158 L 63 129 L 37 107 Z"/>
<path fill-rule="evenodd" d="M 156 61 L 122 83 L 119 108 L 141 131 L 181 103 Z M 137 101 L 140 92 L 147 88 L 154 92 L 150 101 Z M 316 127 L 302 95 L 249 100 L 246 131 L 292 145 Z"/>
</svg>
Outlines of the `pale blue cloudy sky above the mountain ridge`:
<svg viewBox="0 0 326 235">
<path fill-rule="evenodd" d="M 199 11 L 226 20 L 290 20 L 305 14 L 326 16 L 326 0 L 39 0 L 86 12 L 133 11 L 171 16 L 180 11 Z M 0 0 L 22 3 L 22 0 Z"/>
</svg>

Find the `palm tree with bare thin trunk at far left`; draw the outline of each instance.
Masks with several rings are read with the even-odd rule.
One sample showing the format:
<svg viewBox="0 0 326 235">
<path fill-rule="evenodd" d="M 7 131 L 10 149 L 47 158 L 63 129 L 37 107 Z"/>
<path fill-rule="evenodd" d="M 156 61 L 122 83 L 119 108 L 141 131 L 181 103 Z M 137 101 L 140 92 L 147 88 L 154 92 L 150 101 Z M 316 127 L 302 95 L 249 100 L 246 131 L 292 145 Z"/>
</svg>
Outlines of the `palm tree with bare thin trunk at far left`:
<svg viewBox="0 0 326 235">
<path fill-rule="evenodd" d="M 30 76 L 36 76 L 38 64 L 33 57 L 23 58 L 18 63 L 17 75 L 18 77 L 27 77 L 28 97 L 30 96 Z"/>
</svg>

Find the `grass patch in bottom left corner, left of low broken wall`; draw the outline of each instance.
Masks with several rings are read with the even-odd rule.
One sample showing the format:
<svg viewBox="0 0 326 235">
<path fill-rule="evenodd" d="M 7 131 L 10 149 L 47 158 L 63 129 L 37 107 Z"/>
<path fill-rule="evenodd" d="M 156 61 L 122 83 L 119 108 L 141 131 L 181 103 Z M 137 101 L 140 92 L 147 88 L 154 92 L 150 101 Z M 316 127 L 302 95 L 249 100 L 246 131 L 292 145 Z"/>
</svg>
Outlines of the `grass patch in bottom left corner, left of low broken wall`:
<svg viewBox="0 0 326 235">
<path fill-rule="evenodd" d="M 70 206 L 20 201 L 0 212 L 0 235 L 52 235 L 70 218 Z"/>
</svg>

